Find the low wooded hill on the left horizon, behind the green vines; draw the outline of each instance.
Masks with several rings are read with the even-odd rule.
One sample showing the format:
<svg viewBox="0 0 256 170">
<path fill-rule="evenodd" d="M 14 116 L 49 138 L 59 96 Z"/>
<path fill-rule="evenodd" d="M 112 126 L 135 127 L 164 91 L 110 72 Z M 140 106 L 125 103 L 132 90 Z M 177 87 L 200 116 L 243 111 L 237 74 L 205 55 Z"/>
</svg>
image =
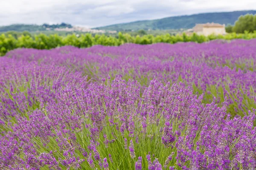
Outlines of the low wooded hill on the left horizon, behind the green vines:
<svg viewBox="0 0 256 170">
<path fill-rule="evenodd" d="M 72 28 L 70 24 L 61 23 L 61 24 L 43 24 L 41 26 L 38 25 L 26 25 L 26 24 L 13 24 L 10 26 L 0 26 L 0 32 L 6 32 L 6 31 L 45 31 L 48 29 L 53 30 L 54 28 Z"/>
</svg>

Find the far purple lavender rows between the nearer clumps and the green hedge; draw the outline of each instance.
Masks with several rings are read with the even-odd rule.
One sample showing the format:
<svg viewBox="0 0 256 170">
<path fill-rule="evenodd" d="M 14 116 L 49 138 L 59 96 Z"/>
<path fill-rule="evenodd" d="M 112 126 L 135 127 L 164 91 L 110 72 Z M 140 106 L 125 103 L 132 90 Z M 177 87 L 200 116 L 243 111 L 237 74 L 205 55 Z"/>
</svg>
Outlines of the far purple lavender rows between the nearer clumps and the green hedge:
<svg viewBox="0 0 256 170">
<path fill-rule="evenodd" d="M 17 61 L 54 63 L 100 82 L 102 76 L 121 76 L 140 82 L 142 91 L 150 79 L 163 83 L 182 81 L 194 92 L 224 102 L 232 116 L 244 115 L 256 106 L 256 40 L 211 41 L 174 45 L 125 44 L 119 47 L 96 45 L 79 49 L 71 46 L 52 50 L 16 49 L 6 54 Z"/>
</svg>

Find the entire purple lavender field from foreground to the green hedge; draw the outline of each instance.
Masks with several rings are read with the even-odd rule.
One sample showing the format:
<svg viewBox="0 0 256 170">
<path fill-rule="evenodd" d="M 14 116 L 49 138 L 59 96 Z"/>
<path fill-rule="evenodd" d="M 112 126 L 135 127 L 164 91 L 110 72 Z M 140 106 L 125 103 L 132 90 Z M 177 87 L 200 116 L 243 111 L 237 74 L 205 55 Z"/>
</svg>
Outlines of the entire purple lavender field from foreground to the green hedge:
<svg viewBox="0 0 256 170">
<path fill-rule="evenodd" d="M 253 170 L 256 39 L 15 49 L 0 169 Z"/>
</svg>

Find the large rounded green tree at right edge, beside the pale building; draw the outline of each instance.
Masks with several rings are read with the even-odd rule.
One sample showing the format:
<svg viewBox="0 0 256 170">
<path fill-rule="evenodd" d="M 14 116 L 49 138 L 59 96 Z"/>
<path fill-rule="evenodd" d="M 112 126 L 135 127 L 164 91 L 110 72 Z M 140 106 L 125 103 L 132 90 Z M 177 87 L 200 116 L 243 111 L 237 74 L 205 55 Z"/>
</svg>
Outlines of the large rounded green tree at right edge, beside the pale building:
<svg viewBox="0 0 256 170">
<path fill-rule="evenodd" d="M 235 23 L 235 26 L 233 27 L 233 31 L 236 33 L 244 33 L 244 31 L 253 32 L 256 30 L 253 22 L 255 15 L 253 14 L 246 14 L 242 15 L 238 18 L 238 20 Z"/>
</svg>

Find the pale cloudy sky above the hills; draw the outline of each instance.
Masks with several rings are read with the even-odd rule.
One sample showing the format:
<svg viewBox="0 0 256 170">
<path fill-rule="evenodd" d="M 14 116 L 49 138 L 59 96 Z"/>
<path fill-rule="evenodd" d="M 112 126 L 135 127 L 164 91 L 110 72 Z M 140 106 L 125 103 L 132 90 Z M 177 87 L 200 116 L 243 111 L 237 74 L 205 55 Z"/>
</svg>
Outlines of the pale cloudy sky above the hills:
<svg viewBox="0 0 256 170">
<path fill-rule="evenodd" d="M 255 0 L 0 0 L 0 25 L 97 27 L 204 12 L 256 10 Z"/>
</svg>

